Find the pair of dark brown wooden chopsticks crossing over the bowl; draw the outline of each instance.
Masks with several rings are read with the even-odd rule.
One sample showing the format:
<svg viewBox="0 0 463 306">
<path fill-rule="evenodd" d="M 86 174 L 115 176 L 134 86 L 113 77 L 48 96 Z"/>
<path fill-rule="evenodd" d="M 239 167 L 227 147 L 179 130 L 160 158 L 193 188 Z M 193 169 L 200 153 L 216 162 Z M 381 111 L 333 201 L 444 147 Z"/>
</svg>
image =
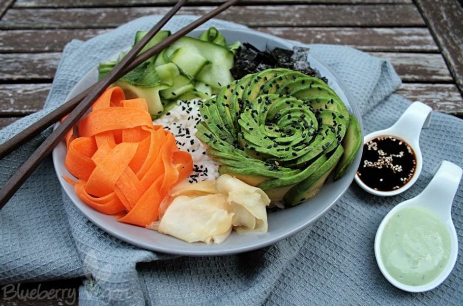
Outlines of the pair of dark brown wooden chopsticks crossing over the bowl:
<svg viewBox="0 0 463 306">
<path fill-rule="evenodd" d="M 58 145 L 65 133 L 72 128 L 79 119 L 86 113 L 88 108 L 96 100 L 96 98 L 103 93 L 108 86 L 124 76 L 127 72 L 137 67 L 150 57 L 158 54 L 174 41 L 196 29 L 209 19 L 218 15 L 231 5 L 239 0 L 229 0 L 214 10 L 205 14 L 201 18 L 195 20 L 191 24 L 176 31 L 160 43 L 146 50 L 139 55 L 139 52 L 148 43 L 148 41 L 166 25 L 166 23 L 174 16 L 174 14 L 183 6 L 187 0 L 179 0 L 174 7 L 141 39 L 129 53 L 108 73 L 103 79 L 90 86 L 87 90 L 80 93 L 76 97 L 62 104 L 53 112 L 41 118 L 39 121 L 33 123 L 28 128 L 18 133 L 10 140 L 0 145 L 0 158 L 17 149 L 20 145 L 24 144 L 30 137 L 36 135 L 45 128 L 51 126 L 53 123 L 58 122 L 65 115 L 68 117 L 58 125 L 58 127 L 50 134 L 49 137 L 37 148 L 37 150 L 30 155 L 26 162 L 11 176 L 11 178 L 0 189 L 0 209 L 8 202 L 13 194 L 21 187 L 27 180 L 29 175 L 37 168 L 40 162 L 52 152 L 53 148 Z"/>
</svg>

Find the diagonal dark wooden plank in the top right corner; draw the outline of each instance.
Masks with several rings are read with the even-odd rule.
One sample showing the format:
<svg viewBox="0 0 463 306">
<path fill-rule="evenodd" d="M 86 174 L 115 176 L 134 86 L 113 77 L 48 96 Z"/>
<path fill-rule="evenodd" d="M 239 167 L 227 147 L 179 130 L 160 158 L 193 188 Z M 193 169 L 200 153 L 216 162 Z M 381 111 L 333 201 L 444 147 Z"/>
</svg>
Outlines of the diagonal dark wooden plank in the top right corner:
<svg viewBox="0 0 463 306">
<path fill-rule="evenodd" d="M 457 0 L 417 0 L 416 3 L 463 94 L 463 4 Z"/>
</svg>

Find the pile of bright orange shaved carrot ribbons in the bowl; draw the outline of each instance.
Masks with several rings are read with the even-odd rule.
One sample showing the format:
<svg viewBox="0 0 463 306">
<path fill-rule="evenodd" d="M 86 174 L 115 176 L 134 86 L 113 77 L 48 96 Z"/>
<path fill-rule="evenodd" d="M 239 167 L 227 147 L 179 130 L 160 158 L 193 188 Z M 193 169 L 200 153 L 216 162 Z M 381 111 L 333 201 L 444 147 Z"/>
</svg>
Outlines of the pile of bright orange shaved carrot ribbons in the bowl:
<svg viewBox="0 0 463 306">
<path fill-rule="evenodd" d="M 145 99 L 125 99 L 110 88 L 66 135 L 65 166 L 77 178 L 79 198 L 118 221 L 146 226 L 159 216 L 169 190 L 193 171 L 190 153 L 179 151 L 172 133 L 153 125 Z"/>
</svg>

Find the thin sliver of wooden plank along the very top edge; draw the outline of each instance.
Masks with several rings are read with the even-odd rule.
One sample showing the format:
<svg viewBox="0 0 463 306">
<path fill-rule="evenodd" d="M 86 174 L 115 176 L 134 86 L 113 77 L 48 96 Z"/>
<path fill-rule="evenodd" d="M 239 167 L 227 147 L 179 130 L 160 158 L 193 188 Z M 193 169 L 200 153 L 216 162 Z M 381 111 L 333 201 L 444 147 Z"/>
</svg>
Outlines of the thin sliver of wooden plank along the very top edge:
<svg viewBox="0 0 463 306">
<path fill-rule="evenodd" d="M 174 4 L 176 0 L 157 0 L 156 5 Z M 218 4 L 221 1 L 190 0 L 194 4 Z M 239 4 L 252 3 L 326 3 L 326 4 L 384 4 L 384 3 L 412 3 L 412 0 L 242 0 Z M 238 4 L 238 5 L 239 5 Z M 152 0 L 17 0 L 14 7 L 104 7 L 104 6 L 141 6 L 153 5 Z"/>
</svg>

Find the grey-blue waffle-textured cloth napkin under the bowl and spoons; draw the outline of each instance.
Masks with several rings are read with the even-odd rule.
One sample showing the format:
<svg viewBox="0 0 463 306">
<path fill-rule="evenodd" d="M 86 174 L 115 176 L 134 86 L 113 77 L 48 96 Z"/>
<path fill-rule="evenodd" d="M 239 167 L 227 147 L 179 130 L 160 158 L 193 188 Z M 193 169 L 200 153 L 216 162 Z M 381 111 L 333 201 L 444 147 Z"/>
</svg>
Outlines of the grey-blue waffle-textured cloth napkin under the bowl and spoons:
<svg viewBox="0 0 463 306">
<path fill-rule="evenodd" d="M 129 45 L 135 31 L 149 29 L 159 18 L 140 18 L 87 42 L 71 41 L 44 110 L 2 129 L 0 142 L 65 101 L 89 69 Z M 194 19 L 174 17 L 166 28 L 176 31 Z M 204 27 L 209 26 L 242 28 L 220 20 Z M 409 105 L 392 94 L 400 79 L 388 61 L 343 46 L 310 48 L 351 91 L 366 133 L 392 125 Z M 50 132 L 44 131 L 0 161 L 1 184 Z M 423 171 L 403 194 L 376 197 L 353 183 L 333 209 L 309 228 L 275 245 L 217 257 L 154 253 L 105 233 L 80 214 L 61 190 L 49 157 L 0 212 L 0 284 L 86 275 L 80 305 L 462 305 L 461 256 L 443 284 L 412 294 L 387 282 L 373 250 L 384 215 L 421 192 L 441 160 L 462 166 L 462 135 L 461 120 L 434 112 L 430 128 L 420 138 Z M 462 204 L 460 185 L 452 217 L 461 243 Z"/>
</svg>

